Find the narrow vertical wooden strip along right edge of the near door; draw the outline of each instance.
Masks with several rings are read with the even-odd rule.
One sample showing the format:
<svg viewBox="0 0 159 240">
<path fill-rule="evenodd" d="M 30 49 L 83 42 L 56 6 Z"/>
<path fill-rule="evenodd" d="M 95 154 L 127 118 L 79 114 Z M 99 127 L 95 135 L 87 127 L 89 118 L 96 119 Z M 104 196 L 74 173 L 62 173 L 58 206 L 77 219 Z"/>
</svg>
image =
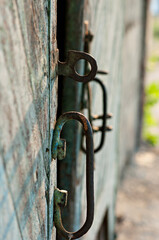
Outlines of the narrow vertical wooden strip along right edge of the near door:
<svg viewBox="0 0 159 240">
<path fill-rule="evenodd" d="M 53 137 L 53 129 L 56 123 L 56 114 L 57 114 L 57 61 L 59 52 L 57 50 L 57 41 L 56 41 L 56 27 L 57 27 L 57 3 L 56 0 L 49 1 L 50 7 L 50 19 L 49 19 L 49 31 L 50 31 L 50 39 L 49 39 L 49 48 L 50 48 L 50 149 L 51 149 L 51 141 Z M 50 153 L 51 154 L 51 153 Z M 54 198 L 53 192 L 54 187 L 56 186 L 56 161 L 52 160 L 50 156 L 50 173 L 49 173 L 49 212 L 48 212 L 48 239 L 55 240 L 56 239 L 56 229 L 53 226 L 53 208 L 54 208 Z"/>
</svg>

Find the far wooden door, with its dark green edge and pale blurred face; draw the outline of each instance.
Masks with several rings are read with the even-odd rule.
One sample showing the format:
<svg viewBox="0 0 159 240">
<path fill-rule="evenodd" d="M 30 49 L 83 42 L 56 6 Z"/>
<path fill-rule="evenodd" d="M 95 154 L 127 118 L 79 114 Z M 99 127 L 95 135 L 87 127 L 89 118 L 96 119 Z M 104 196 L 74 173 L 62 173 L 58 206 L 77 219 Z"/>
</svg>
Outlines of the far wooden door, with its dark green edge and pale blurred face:
<svg viewBox="0 0 159 240">
<path fill-rule="evenodd" d="M 141 64 L 144 34 L 144 0 L 73 0 L 58 1 L 59 48 L 63 56 L 69 49 L 85 49 L 87 30 L 93 35 L 90 54 L 96 59 L 97 78 L 107 90 L 107 119 L 113 131 L 106 132 L 106 141 L 95 153 L 95 216 L 89 232 L 82 239 L 113 240 L 116 191 L 125 162 L 131 158 L 139 132 Z M 138 49 L 138 50 L 136 50 Z M 87 49 L 88 50 L 88 49 Z M 61 57 L 63 57 L 61 56 Z M 109 74 L 101 74 L 108 71 Z M 84 73 L 81 64 L 80 73 Z M 96 81 L 97 82 L 97 81 Z M 92 115 L 102 114 L 102 89 L 95 81 L 92 90 Z M 64 79 L 60 111 L 83 111 L 82 84 Z M 101 126 L 101 119 L 93 122 Z M 107 128 L 106 128 L 107 129 Z M 108 128 L 111 129 L 111 128 Z M 131 135 L 131 136 L 129 136 Z M 81 148 L 81 131 L 70 123 L 63 136 L 67 140 L 67 156 L 58 162 L 58 186 L 66 189 L 68 206 L 63 210 L 64 226 L 76 231 L 85 220 L 85 152 Z M 95 148 L 101 133 L 94 133 Z M 61 236 L 58 238 L 61 240 Z"/>
</svg>

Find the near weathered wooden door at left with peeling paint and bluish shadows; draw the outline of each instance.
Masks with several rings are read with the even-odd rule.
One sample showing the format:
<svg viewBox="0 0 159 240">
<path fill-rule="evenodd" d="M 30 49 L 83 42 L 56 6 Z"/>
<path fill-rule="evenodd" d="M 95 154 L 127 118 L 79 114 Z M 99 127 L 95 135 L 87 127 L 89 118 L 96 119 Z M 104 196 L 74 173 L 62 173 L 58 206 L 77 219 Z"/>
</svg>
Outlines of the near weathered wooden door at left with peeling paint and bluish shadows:
<svg viewBox="0 0 159 240">
<path fill-rule="evenodd" d="M 56 1 L 0 8 L 0 239 L 55 239 Z"/>
</svg>

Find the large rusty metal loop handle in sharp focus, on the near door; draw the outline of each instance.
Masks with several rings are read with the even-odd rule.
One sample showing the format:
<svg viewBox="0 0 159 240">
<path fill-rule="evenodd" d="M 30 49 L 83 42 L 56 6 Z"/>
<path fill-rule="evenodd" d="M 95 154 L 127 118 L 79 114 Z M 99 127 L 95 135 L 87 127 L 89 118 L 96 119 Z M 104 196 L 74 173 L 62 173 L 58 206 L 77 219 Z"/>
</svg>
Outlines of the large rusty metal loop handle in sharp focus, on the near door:
<svg viewBox="0 0 159 240">
<path fill-rule="evenodd" d="M 86 135 L 86 193 L 87 193 L 87 217 L 84 225 L 77 232 L 68 232 L 62 224 L 61 206 L 67 204 L 67 191 L 55 189 L 54 191 L 54 223 L 57 230 L 66 239 L 76 239 L 82 237 L 91 227 L 94 218 L 94 151 L 93 151 L 93 132 L 91 125 L 87 118 L 78 112 L 67 112 L 62 114 L 55 126 L 53 143 L 52 143 L 52 157 L 57 158 L 62 146 L 60 133 L 64 124 L 75 119 L 79 121 L 84 128 Z M 63 140 L 62 140 L 63 142 Z M 64 154 L 63 154 L 64 155 Z"/>
</svg>

